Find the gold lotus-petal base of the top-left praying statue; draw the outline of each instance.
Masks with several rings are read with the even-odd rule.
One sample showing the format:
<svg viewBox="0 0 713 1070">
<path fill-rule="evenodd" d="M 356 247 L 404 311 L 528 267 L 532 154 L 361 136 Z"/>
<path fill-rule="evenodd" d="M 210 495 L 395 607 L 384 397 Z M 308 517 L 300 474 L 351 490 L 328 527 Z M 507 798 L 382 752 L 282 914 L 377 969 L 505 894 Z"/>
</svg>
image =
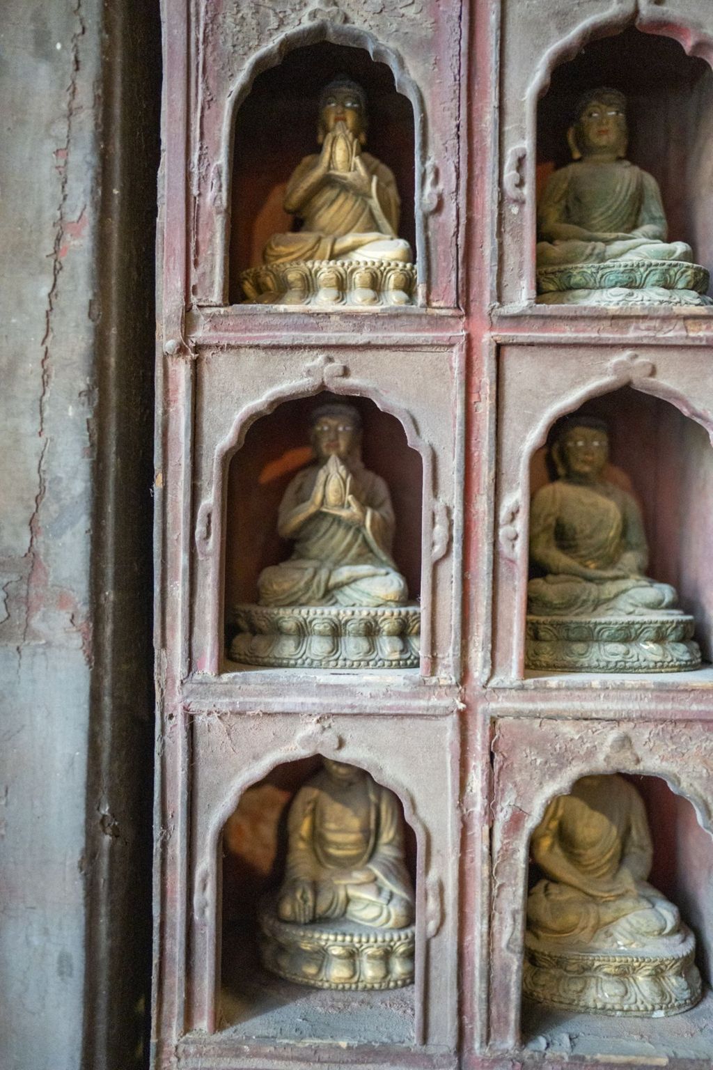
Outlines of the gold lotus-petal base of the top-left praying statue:
<svg viewBox="0 0 713 1070">
<path fill-rule="evenodd" d="M 293 260 L 241 275 L 248 305 L 378 308 L 412 305 L 416 268 L 400 260 Z"/>
</svg>

